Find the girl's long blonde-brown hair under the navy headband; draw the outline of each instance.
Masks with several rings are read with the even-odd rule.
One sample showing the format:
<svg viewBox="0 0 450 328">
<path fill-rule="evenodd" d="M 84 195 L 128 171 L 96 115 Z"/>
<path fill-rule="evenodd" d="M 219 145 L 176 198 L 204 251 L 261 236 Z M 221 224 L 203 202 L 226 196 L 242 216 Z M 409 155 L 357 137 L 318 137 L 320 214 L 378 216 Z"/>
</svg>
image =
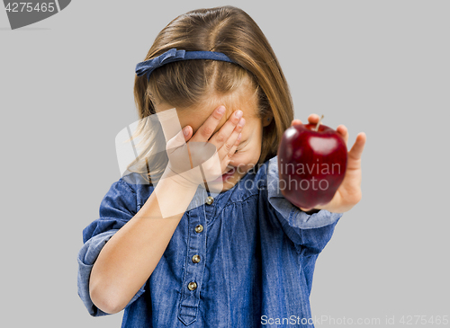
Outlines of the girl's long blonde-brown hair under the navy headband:
<svg viewBox="0 0 450 328">
<path fill-rule="evenodd" d="M 264 118 L 267 114 L 274 117 L 263 130 L 258 164 L 276 155 L 284 130 L 293 120 L 293 101 L 274 50 L 257 23 L 242 9 L 231 5 L 193 10 L 176 17 L 159 32 L 144 60 L 172 48 L 221 52 L 238 65 L 217 60 L 185 60 L 158 67 L 149 81 L 146 75 L 136 75 L 134 99 L 139 119 L 155 114 L 154 104 L 158 101 L 186 108 L 205 102 L 211 94 L 232 93 L 249 80 L 257 93 L 257 117 Z M 144 129 L 143 125 L 139 131 Z M 151 137 L 146 140 L 149 142 Z M 150 149 L 148 146 L 148 152 Z M 138 167 L 138 162 L 139 158 L 129 165 L 129 170 Z M 148 173 L 148 162 L 139 167 L 140 173 Z"/>
</svg>

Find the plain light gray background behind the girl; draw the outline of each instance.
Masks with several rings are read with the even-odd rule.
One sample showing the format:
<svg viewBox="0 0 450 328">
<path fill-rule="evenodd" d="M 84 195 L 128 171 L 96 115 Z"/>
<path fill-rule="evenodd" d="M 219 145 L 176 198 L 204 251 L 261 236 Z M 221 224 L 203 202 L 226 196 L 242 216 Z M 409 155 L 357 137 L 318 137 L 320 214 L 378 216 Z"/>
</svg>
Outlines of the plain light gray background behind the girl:
<svg viewBox="0 0 450 328">
<path fill-rule="evenodd" d="M 78 0 L 16 31 L 0 11 L 8 326 L 120 326 L 122 313 L 92 318 L 77 296 L 82 230 L 120 178 L 114 137 L 137 120 L 136 64 L 177 15 L 222 4 L 266 33 L 297 119 L 314 112 L 332 128 L 345 124 L 349 146 L 367 135 L 363 199 L 318 259 L 313 315 L 394 315 L 396 326 L 402 315 L 450 315 L 450 3 Z"/>
</svg>

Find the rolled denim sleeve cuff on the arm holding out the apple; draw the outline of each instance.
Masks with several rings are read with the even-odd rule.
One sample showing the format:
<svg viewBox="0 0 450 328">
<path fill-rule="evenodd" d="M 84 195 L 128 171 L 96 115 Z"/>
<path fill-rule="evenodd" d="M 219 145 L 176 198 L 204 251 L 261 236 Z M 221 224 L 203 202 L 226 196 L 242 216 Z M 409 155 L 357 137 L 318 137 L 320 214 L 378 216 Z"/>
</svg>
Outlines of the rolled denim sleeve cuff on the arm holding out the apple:
<svg viewBox="0 0 450 328">
<path fill-rule="evenodd" d="M 293 243 L 306 247 L 308 253 L 320 253 L 328 244 L 343 213 L 332 213 L 320 209 L 319 212 L 310 215 L 285 199 L 279 189 L 277 156 L 269 160 L 267 192 L 268 201 L 275 211 L 275 216 Z"/>
</svg>

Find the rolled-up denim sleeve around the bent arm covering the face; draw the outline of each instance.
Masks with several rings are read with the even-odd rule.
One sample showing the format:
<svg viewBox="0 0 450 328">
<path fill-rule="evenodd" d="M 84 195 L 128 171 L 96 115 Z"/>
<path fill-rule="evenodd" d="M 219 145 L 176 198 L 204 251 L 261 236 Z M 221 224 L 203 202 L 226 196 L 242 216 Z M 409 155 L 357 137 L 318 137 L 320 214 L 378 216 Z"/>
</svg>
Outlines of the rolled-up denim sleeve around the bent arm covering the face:
<svg viewBox="0 0 450 328">
<path fill-rule="evenodd" d="M 89 294 L 89 277 L 91 275 L 94 262 L 102 251 L 104 244 L 114 235 L 122 226 L 124 226 L 131 217 L 137 212 L 137 196 L 127 182 L 120 179 L 112 183 L 110 190 L 104 196 L 99 214 L 100 217 L 94 220 L 83 230 L 83 247 L 78 253 L 78 275 L 77 286 L 78 296 L 81 298 L 89 315 L 101 316 L 108 315 L 94 305 Z M 138 299 L 145 291 L 144 284 L 129 304 Z"/>
</svg>

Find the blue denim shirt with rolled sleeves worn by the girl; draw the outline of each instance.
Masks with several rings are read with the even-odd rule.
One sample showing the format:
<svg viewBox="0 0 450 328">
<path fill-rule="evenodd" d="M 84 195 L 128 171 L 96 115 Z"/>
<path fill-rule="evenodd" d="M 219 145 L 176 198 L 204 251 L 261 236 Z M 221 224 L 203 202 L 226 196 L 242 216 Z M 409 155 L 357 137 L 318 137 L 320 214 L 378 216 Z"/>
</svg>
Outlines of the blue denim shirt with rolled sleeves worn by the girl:
<svg viewBox="0 0 450 328">
<path fill-rule="evenodd" d="M 100 217 L 85 227 L 77 282 L 90 315 L 107 315 L 89 296 L 94 262 L 152 191 L 152 185 L 121 178 L 103 198 Z M 208 196 L 211 205 L 203 201 Z M 125 307 L 121 326 L 249 328 L 275 326 L 278 318 L 277 326 L 313 327 L 315 262 L 342 214 L 322 209 L 308 215 L 284 199 L 276 156 L 229 191 L 216 194 L 199 187 L 195 201 L 157 267 Z M 202 231 L 195 229 L 199 225 Z M 200 262 L 193 262 L 193 255 Z M 193 290 L 191 282 L 197 286 Z"/>
</svg>

